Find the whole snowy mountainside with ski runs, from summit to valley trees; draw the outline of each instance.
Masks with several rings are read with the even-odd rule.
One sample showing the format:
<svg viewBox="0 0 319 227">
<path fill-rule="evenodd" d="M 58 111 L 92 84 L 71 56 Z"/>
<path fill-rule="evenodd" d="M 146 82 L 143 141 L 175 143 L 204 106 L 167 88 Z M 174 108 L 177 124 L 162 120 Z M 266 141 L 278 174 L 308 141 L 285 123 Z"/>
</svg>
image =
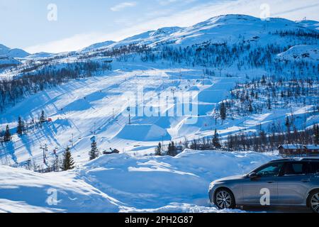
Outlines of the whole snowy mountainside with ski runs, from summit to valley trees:
<svg viewBox="0 0 319 227">
<path fill-rule="evenodd" d="M 0 163 L 25 167 L 32 162 L 46 168 L 55 157 L 53 150 L 61 155 L 69 146 L 82 166 L 89 160 L 92 137 L 101 152 L 112 148 L 150 155 L 159 142 L 167 146 L 171 140 L 184 143 L 210 137 L 215 129 L 220 140 L 260 126 L 269 131 L 271 123 L 284 124 L 291 112 L 306 121 L 300 120 L 296 130 L 311 128 L 318 116 L 308 109 L 315 105 L 301 106 L 301 99 L 280 111 L 247 116 L 229 112 L 224 120 L 218 116 L 220 104 L 231 98 L 236 84 L 252 79 L 311 78 L 318 86 L 319 34 L 309 24 L 225 15 L 76 52 L 22 57 L 23 64 L 0 74 L 5 78 L 0 81 L 0 128 L 8 125 L 13 135 L 0 145 Z M 134 97 L 128 96 L 140 88 L 147 95 L 134 105 Z M 168 104 L 158 102 L 161 94 L 172 98 Z M 190 94 L 197 108 L 177 116 L 179 104 L 189 103 L 177 102 L 183 94 Z M 144 114 L 138 114 L 140 109 Z M 42 111 L 50 122 L 39 123 Z M 19 116 L 26 123 L 23 135 L 16 133 Z"/>
</svg>

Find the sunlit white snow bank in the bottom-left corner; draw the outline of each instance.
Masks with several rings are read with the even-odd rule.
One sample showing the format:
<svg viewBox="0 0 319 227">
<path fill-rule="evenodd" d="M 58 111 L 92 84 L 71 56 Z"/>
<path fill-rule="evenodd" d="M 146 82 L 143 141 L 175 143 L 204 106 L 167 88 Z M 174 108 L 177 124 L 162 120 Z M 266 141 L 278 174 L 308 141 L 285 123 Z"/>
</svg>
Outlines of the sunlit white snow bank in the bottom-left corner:
<svg viewBox="0 0 319 227">
<path fill-rule="evenodd" d="M 0 212 L 117 212 L 120 204 L 75 172 L 40 174 L 0 166 L 0 175 Z M 55 192 L 57 204 L 52 204 Z"/>
</svg>

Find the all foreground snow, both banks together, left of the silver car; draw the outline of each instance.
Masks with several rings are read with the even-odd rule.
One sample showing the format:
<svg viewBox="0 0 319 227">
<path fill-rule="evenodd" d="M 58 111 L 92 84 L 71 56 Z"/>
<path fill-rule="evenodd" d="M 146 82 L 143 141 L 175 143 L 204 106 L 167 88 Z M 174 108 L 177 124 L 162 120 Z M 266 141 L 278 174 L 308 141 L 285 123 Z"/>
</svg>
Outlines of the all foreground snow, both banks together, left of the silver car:
<svg viewBox="0 0 319 227">
<path fill-rule="evenodd" d="M 77 170 L 47 174 L 0 166 L 0 211 L 238 212 L 211 206 L 209 184 L 274 158 L 185 150 L 177 157 L 103 155 Z M 57 205 L 50 206 L 52 189 Z"/>
</svg>

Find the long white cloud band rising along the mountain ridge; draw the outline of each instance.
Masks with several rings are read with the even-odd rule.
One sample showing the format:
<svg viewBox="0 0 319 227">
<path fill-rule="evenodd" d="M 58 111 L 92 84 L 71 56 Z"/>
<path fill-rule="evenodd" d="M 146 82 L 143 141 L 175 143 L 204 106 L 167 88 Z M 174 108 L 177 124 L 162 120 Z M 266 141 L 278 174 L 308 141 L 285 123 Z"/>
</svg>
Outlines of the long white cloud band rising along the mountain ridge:
<svg viewBox="0 0 319 227">
<path fill-rule="evenodd" d="M 160 11 L 155 13 L 154 18 L 142 15 L 139 23 L 128 23 L 127 28 L 112 33 L 91 33 L 79 34 L 63 40 L 57 40 L 43 45 L 36 45 L 26 48 L 28 52 L 63 52 L 70 50 L 79 50 L 93 43 L 99 43 L 106 40 L 122 40 L 129 36 L 136 35 L 145 31 L 156 30 L 157 28 L 167 26 L 192 26 L 195 23 L 205 21 L 213 16 L 221 14 L 247 14 L 251 16 L 261 16 L 260 6 L 269 4 L 270 16 L 288 18 L 293 21 L 301 20 L 305 16 L 308 19 L 319 21 L 318 7 L 315 7 L 313 0 L 237 0 L 237 1 L 219 1 L 218 3 L 201 4 L 190 9 L 172 13 L 172 11 Z M 135 21 L 136 22 L 136 21 Z"/>
</svg>

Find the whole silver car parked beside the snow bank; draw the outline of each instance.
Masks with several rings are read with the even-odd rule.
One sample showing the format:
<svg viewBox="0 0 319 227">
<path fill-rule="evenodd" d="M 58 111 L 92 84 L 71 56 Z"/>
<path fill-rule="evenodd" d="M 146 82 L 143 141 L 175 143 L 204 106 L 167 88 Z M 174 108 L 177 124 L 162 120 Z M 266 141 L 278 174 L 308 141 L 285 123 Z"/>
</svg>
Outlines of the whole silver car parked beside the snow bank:
<svg viewBox="0 0 319 227">
<path fill-rule="evenodd" d="M 319 157 L 274 160 L 247 175 L 212 182 L 219 209 L 236 206 L 306 206 L 319 213 Z"/>
</svg>

